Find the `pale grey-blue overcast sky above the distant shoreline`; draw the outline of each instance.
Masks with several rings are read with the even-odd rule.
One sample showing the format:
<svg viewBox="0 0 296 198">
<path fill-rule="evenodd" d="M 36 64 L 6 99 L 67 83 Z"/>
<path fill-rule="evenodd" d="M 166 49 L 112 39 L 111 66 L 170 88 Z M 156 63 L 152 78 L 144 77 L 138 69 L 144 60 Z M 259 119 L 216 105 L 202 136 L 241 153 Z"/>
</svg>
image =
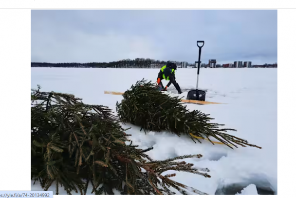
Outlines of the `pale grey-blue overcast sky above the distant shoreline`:
<svg viewBox="0 0 296 198">
<path fill-rule="evenodd" d="M 32 10 L 32 62 L 277 62 L 277 10 Z"/>
</svg>

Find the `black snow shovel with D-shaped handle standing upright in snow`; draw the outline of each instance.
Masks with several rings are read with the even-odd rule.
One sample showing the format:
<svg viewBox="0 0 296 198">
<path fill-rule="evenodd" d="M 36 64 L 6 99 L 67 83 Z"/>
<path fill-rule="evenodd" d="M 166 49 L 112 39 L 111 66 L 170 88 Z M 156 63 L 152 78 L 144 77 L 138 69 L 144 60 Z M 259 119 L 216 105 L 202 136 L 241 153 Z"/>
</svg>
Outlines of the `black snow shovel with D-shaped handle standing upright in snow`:
<svg viewBox="0 0 296 198">
<path fill-rule="evenodd" d="M 198 89 L 198 77 L 200 75 L 201 54 L 202 54 L 203 45 L 200 46 L 198 43 L 204 44 L 204 41 L 196 41 L 196 44 L 199 47 L 196 89 L 188 92 L 187 99 L 204 101 L 205 100 L 205 91 Z"/>
</svg>

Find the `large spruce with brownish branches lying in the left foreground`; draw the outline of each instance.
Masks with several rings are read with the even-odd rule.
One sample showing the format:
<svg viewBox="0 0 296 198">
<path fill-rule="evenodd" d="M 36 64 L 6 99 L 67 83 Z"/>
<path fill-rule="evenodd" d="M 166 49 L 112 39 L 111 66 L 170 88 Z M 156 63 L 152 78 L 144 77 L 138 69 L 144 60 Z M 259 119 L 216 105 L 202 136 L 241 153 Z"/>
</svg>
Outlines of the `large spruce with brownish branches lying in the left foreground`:
<svg viewBox="0 0 296 198">
<path fill-rule="evenodd" d="M 210 178 L 207 168 L 180 160 L 202 155 L 152 160 L 145 152 L 153 148 L 125 143 L 129 135 L 108 107 L 39 89 L 31 91 L 31 179 L 44 190 L 55 185 L 56 195 L 59 187 L 85 195 L 88 186 L 96 195 L 112 195 L 114 189 L 122 195 L 171 195 L 172 189 L 205 194 L 171 180 L 175 174 L 162 175 L 175 170 Z"/>
</svg>

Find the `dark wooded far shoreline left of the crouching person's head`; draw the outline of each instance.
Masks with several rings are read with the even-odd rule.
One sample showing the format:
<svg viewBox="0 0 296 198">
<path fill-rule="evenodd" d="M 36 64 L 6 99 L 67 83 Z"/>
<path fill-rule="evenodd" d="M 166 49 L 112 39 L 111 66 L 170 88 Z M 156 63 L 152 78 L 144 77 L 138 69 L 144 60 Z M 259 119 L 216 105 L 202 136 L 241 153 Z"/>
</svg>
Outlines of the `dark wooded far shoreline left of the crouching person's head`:
<svg viewBox="0 0 296 198">
<path fill-rule="evenodd" d="M 137 58 L 134 60 L 124 59 L 113 62 L 89 62 L 89 63 L 48 63 L 48 62 L 31 62 L 31 67 L 94 67 L 94 68 L 160 68 L 168 61 Z M 177 65 L 180 62 L 176 62 Z"/>
</svg>

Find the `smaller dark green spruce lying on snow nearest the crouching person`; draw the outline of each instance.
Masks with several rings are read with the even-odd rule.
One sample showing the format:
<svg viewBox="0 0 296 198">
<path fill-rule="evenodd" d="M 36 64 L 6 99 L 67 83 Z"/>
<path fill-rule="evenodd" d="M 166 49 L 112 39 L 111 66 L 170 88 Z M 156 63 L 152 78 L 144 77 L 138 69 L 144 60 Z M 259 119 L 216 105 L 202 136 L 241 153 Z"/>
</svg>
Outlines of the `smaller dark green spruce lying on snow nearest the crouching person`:
<svg viewBox="0 0 296 198">
<path fill-rule="evenodd" d="M 237 145 L 261 148 L 244 139 L 223 133 L 236 130 L 220 129 L 224 124 L 210 123 L 212 118 L 209 118 L 209 115 L 198 110 L 188 111 L 178 97 L 170 97 L 160 92 L 151 81 L 137 81 L 123 94 L 123 98 L 121 103 L 116 104 L 119 118 L 124 123 L 142 127 L 141 130 L 144 129 L 145 132 L 167 130 L 178 136 L 186 134 L 194 142 L 197 140 L 201 143 L 198 137 L 206 137 L 209 140 L 213 137 L 232 149 L 232 146 L 238 147 Z"/>
</svg>

